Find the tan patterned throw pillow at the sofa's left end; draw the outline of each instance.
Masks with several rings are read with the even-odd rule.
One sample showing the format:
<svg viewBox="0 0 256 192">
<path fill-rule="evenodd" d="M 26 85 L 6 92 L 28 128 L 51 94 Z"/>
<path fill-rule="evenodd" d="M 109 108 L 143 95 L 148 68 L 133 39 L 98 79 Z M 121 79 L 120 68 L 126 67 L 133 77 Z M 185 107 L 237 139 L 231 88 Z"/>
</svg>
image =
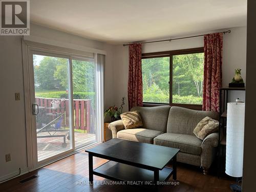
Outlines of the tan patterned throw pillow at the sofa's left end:
<svg viewBox="0 0 256 192">
<path fill-rule="evenodd" d="M 133 129 L 142 126 L 142 121 L 138 111 L 126 112 L 120 116 L 125 129 Z"/>
</svg>

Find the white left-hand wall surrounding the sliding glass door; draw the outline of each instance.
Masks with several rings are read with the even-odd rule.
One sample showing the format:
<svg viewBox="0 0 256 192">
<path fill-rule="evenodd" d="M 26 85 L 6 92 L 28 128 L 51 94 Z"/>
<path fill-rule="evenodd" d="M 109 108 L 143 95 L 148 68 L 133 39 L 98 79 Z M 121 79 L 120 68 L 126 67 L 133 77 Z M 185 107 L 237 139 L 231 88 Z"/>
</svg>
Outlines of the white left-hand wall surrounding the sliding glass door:
<svg viewBox="0 0 256 192">
<path fill-rule="evenodd" d="M 69 33 L 31 24 L 31 35 L 82 45 L 107 51 L 105 63 L 105 99 L 113 104 L 113 49 L 104 42 L 86 39 Z M 109 55 L 108 55 L 109 54 Z M 22 65 L 22 44 L 20 36 L 0 36 L 0 181 L 27 170 L 25 103 Z M 20 101 L 15 101 L 14 93 L 20 93 Z M 5 162 L 5 154 L 11 154 L 11 161 Z"/>
</svg>

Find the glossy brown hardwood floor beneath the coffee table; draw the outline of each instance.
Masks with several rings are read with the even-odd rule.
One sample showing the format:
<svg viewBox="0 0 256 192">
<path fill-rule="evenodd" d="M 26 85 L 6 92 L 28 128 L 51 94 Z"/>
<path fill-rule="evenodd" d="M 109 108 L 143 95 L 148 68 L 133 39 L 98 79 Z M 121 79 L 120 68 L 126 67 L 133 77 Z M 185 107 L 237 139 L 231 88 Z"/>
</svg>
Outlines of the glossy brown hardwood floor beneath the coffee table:
<svg viewBox="0 0 256 192">
<path fill-rule="evenodd" d="M 106 162 L 94 158 L 94 168 Z M 211 173 L 215 172 L 215 168 Z M 23 184 L 18 181 L 32 175 L 35 179 Z M 88 154 L 79 152 L 55 163 L 34 170 L 23 176 L 0 184 L 0 191 L 153 191 L 154 187 L 135 185 L 108 185 L 100 182 L 110 181 L 94 176 L 94 185 L 88 185 Z M 172 178 L 169 179 L 172 181 Z M 230 191 L 231 180 L 218 179 L 214 175 L 203 175 L 199 167 L 178 163 L 177 181 L 179 184 L 159 186 L 158 191 Z"/>
</svg>

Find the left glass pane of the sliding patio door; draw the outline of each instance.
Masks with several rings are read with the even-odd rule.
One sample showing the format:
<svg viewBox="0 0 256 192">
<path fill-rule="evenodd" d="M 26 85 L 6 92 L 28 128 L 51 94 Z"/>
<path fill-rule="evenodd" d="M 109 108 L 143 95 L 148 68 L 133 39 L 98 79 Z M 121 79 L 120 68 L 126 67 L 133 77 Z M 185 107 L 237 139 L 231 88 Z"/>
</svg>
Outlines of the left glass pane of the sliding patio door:
<svg viewBox="0 0 256 192">
<path fill-rule="evenodd" d="M 72 150 L 69 58 L 33 54 L 37 161 Z"/>
</svg>

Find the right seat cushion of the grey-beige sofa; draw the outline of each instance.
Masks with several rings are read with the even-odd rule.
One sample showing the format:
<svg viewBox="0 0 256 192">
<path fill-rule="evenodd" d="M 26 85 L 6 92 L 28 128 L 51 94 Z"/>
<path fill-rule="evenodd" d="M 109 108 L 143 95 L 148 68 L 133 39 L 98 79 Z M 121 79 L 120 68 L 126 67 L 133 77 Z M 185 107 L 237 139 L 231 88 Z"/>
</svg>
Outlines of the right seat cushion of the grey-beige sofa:
<svg viewBox="0 0 256 192">
<path fill-rule="evenodd" d="M 154 138 L 154 144 L 179 148 L 181 152 L 200 155 L 202 140 L 195 135 L 164 133 Z"/>
</svg>

